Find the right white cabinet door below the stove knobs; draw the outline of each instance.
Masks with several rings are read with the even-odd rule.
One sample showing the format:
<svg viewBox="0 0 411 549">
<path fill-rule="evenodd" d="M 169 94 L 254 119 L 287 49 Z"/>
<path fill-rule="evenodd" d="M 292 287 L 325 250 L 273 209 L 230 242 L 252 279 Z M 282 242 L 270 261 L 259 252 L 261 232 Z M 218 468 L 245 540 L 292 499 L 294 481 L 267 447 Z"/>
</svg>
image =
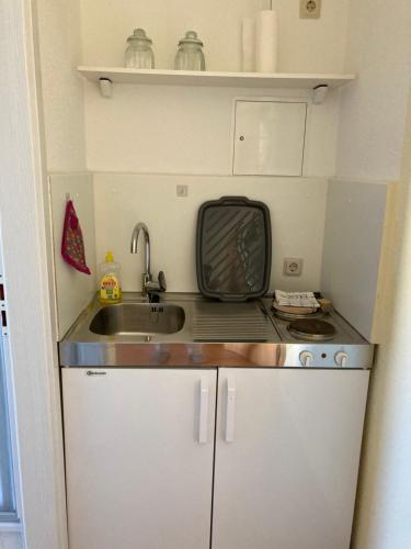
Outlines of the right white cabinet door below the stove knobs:
<svg viewBox="0 0 411 549">
<path fill-rule="evenodd" d="M 213 549 L 349 549 L 368 372 L 221 369 Z"/>
</svg>

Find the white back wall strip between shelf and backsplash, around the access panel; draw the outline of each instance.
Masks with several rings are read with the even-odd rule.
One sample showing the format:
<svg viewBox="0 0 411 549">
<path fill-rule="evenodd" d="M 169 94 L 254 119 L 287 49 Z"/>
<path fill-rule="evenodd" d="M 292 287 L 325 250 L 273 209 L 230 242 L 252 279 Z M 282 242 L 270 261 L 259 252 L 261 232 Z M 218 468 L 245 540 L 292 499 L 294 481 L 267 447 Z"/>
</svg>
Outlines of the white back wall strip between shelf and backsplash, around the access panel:
<svg viewBox="0 0 411 549">
<path fill-rule="evenodd" d="M 230 175 L 236 97 L 284 97 L 278 90 L 116 86 L 103 99 L 87 82 L 85 120 L 91 171 Z M 288 97 L 307 97 L 293 90 Z M 304 175 L 334 172 L 339 91 L 311 105 Z"/>
</svg>

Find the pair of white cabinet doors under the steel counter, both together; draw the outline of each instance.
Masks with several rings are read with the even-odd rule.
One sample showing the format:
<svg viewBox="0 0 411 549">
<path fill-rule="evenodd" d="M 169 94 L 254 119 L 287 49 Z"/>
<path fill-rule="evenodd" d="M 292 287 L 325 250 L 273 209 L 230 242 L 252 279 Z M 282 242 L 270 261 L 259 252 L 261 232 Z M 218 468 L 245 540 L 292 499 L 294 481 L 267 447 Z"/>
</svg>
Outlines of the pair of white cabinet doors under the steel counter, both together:
<svg viewBox="0 0 411 549">
<path fill-rule="evenodd" d="M 208 549 L 212 516 L 213 549 L 349 549 L 368 372 L 221 368 L 217 414 L 216 383 L 62 370 L 70 549 Z"/>
</svg>

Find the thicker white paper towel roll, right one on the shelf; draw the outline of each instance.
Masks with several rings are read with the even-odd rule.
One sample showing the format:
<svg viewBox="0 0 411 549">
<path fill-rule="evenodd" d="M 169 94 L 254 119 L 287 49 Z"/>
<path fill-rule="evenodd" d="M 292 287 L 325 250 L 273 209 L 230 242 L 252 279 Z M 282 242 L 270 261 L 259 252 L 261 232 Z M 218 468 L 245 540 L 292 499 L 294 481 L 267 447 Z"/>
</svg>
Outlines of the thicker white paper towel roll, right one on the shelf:
<svg viewBox="0 0 411 549">
<path fill-rule="evenodd" d="M 275 72 L 277 70 L 277 13 L 263 10 L 255 21 L 255 70 Z"/>
</svg>

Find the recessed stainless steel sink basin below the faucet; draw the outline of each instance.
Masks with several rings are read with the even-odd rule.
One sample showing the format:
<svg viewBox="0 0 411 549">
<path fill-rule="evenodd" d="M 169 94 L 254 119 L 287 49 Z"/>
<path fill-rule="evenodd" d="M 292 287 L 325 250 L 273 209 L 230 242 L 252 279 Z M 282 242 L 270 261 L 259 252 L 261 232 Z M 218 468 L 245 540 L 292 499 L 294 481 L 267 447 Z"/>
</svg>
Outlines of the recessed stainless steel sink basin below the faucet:
<svg viewBox="0 0 411 549">
<path fill-rule="evenodd" d="M 118 303 L 101 309 L 90 330 L 102 336 L 175 334 L 184 326 L 184 309 L 159 303 Z"/>
</svg>

